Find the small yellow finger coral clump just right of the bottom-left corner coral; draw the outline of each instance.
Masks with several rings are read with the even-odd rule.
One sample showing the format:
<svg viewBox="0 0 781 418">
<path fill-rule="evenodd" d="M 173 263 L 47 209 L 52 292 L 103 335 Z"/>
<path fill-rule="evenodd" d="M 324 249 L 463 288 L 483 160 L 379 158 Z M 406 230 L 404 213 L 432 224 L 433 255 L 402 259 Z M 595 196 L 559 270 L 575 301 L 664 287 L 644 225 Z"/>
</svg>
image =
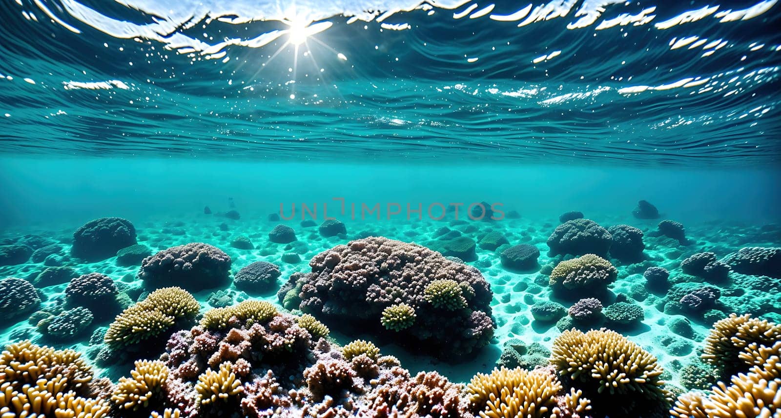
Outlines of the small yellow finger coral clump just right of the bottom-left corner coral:
<svg viewBox="0 0 781 418">
<path fill-rule="evenodd" d="M 168 378 L 168 367 L 162 361 L 137 360 L 131 377 L 120 377 L 111 400 L 123 409 L 137 410 L 146 407 L 149 400 L 159 393 Z"/>
</svg>

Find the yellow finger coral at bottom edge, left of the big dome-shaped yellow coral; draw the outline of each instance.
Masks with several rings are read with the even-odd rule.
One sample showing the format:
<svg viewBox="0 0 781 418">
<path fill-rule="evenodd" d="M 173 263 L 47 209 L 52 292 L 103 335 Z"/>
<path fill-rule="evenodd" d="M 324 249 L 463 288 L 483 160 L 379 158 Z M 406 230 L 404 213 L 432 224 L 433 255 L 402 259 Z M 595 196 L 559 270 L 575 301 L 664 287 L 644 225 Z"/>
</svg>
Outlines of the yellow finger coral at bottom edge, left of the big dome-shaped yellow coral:
<svg viewBox="0 0 781 418">
<path fill-rule="evenodd" d="M 591 409 L 582 391 L 573 388 L 565 394 L 555 374 L 544 369 L 501 367 L 490 374 L 476 374 L 466 391 L 473 409 L 483 418 L 559 418 L 567 411 L 585 413 Z M 567 411 L 560 408 L 560 400 Z"/>
</svg>

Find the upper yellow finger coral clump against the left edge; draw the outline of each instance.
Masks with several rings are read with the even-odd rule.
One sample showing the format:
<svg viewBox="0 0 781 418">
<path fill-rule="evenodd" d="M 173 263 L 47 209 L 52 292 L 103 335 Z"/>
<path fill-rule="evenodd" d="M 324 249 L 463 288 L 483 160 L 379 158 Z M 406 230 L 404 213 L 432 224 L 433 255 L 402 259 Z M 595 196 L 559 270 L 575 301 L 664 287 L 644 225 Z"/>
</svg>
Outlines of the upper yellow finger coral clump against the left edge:
<svg viewBox="0 0 781 418">
<path fill-rule="evenodd" d="M 0 354 L 0 377 L 13 382 L 16 389 L 23 384 L 37 383 L 39 378 L 52 379 L 58 374 L 67 377 L 69 387 L 79 388 L 92 380 L 92 370 L 81 353 L 72 349 L 55 350 L 35 345 L 30 340 L 5 346 Z"/>
</svg>

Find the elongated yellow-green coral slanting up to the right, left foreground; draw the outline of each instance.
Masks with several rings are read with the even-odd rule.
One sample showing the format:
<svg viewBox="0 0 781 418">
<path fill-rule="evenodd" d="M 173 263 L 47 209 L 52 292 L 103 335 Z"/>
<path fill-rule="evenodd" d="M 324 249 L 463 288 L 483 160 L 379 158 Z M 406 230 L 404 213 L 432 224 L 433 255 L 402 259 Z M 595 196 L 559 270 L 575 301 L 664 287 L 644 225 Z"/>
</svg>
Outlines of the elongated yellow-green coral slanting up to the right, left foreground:
<svg viewBox="0 0 781 418">
<path fill-rule="evenodd" d="M 184 289 L 157 289 L 117 315 L 104 341 L 113 348 L 141 342 L 162 334 L 179 320 L 192 321 L 200 309 L 198 301 Z"/>
</svg>

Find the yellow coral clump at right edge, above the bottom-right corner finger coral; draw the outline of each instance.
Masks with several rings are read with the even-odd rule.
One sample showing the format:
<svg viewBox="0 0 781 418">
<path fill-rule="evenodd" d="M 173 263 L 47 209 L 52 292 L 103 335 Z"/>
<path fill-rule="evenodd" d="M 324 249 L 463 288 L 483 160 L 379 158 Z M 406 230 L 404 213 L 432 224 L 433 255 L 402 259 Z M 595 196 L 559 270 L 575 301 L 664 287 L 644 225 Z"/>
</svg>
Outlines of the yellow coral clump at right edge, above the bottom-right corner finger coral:
<svg viewBox="0 0 781 418">
<path fill-rule="evenodd" d="M 749 369 L 749 366 L 740 360 L 740 353 L 749 345 L 772 345 L 779 340 L 781 325 L 751 317 L 749 314 L 731 314 L 713 324 L 710 335 L 705 339 L 702 358 L 719 369 L 722 376 L 728 377 Z"/>
</svg>

